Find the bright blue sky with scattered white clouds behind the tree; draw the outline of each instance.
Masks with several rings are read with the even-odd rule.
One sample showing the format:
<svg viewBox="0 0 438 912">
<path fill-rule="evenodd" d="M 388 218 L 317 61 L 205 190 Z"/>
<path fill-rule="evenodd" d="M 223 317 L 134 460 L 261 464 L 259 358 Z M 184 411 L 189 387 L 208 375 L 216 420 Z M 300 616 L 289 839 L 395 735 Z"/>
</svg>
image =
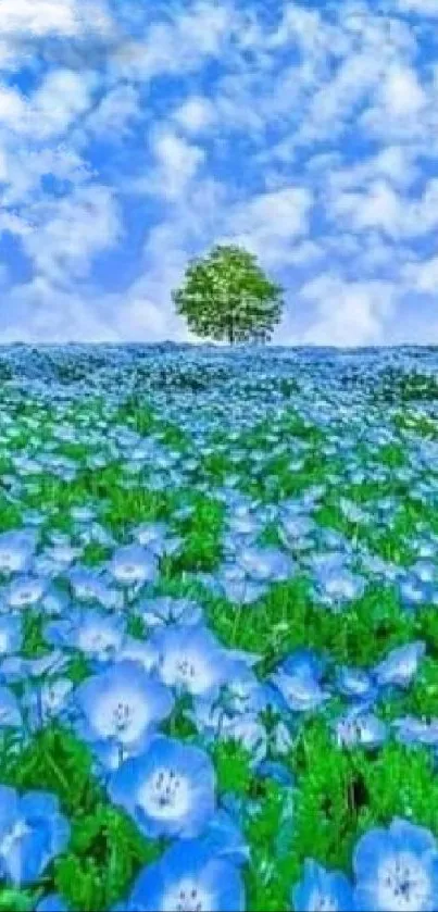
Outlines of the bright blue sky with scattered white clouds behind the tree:
<svg viewBox="0 0 438 912">
<path fill-rule="evenodd" d="M 274 341 L 438 343 L 438 0 L 0 0 L 0 341 L 195 341 L 241 243 Z"/>
</svg>

